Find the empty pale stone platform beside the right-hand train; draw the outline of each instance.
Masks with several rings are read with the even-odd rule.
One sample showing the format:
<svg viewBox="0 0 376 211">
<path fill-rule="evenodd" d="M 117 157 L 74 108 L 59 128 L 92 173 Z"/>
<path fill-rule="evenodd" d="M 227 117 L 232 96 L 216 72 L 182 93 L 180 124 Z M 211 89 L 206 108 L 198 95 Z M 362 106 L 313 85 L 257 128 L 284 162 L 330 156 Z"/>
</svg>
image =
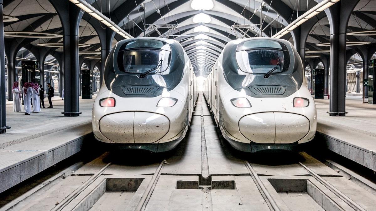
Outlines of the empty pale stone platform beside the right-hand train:
<svg viewBox="0 0 376 211">
<path fill-rule="evenodd" d="M 317 137 L 329 150 L 376 171 L 376 105 L 346 97 L 346 116 L 329 116 L 328 99 L 315 99 Z"/>
</svg>

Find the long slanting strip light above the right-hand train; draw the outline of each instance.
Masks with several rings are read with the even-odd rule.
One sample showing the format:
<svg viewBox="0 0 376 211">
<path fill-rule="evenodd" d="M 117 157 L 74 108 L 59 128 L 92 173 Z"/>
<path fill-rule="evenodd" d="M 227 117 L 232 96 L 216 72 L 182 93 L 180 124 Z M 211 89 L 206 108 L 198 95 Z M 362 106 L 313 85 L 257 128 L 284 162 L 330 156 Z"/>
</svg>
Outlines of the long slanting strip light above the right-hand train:
<svg viewBox="0 0 376 211">
<path fill-rule="evenodd" d="M 304 22 L 309 20 L 309 18 L 314 17 L 315 15 L 319 14 L 324 9 L 329 8 L 330 6 L 334 5 L 335 3 L 339 2 L 340 0 L 323 0 L 316 6 L 314 6 L 309 11 L 305 12 L 303 15 L 300 15 L 293 23 L 288 24 L 285 28 L 280 30 L 278 33 L 272 36 L 272 38 L 281 38 L 282 36 L 286 35 L 287 33 L 294 30 L 296 27 L 302 25 Z"/>
</svg>

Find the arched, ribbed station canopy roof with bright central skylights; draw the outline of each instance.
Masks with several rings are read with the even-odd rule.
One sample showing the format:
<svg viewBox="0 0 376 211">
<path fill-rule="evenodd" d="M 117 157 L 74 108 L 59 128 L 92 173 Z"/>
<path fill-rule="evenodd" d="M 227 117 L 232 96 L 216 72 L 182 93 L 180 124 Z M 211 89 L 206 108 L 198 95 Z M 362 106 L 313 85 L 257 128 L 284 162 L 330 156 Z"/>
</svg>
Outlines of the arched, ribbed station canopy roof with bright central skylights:
<svg viewBox="0 0 376 211">
<path fill-rule="evenodd" d="M 62 24 L 56 9 L 49 0 L 4 0 L 4 14 L 17 21 L 5 22 L 5 32 L 48 32 L 62 35 Z M 315 5 L 316 0 L 87 0 L 88 3 L 110 17 L 122 29 L 134 37 L 152 36 L 176 39 L 185 48 L 196 75 L 206 77 L 227 42 L 237 39 L 239 29 L 233 25 L 247 25 L 245 37 L 270 37 L 287 26 L 300 14 Z M 145 5 L 146 32 L 144 29 Z M 263 5 L 261 7 L 261 4 Z M 318 46 L 330 42 L 330 26 L 324 13 L 313 17 L 317 23 L 312 27 L 306 41 L 307 51 L 329 50 Z M 324 15 L 322 15 L 324 14 Z M 80 22 L 79 43 L 88 46 L 80 51 L 100 51 L 100 41 L 96 29 L 84 15 Z M 260 33 L 260 23 L 262 32 Z M 103 25 L 103 27 L 105 27 Z M 348 32 L 375 30 L 376 0 L 360 0 L 349 20 Z M 246 27 L 243 30 L 248 30 Z M 293 43 L 291 34 L 283 37 Z M 6 41 L 19 38 L 6 36 Z M 29 47 L 42 48 L 38 44 L 62 43 L 58 38 L 27 38 Z M 115 35 L 112 42 L 123 39 Z M 348 42 L 376 43 L 376 36 L 348 35 Z M 44 47 L 49 48 L 49 47 Z M 53 48 L 62 52 L 63 48 Z M 348 47 L 350 49 L 350 47 Z M 323 55 L 307 53 L 307 55 Z M 90 55 L 96 56 L 96 55 Z M 99 56 L 99 55 L 97 55 Z"/>
</svg>

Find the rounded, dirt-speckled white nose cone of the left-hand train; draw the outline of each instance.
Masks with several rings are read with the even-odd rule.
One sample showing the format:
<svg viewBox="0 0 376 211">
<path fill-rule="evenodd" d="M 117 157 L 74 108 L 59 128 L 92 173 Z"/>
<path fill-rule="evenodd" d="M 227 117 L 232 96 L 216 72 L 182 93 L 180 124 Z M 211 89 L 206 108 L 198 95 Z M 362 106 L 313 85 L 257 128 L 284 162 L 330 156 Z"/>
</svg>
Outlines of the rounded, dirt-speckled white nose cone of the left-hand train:
<svg viewBox="0 0 376 211">
<path fill-rule="evenodd" d="M 99 121 L 100 132 L 115 143 L 153 143 L 164 137 L 170 121 L 150 112 L 120 112 Z"/>
</svg>

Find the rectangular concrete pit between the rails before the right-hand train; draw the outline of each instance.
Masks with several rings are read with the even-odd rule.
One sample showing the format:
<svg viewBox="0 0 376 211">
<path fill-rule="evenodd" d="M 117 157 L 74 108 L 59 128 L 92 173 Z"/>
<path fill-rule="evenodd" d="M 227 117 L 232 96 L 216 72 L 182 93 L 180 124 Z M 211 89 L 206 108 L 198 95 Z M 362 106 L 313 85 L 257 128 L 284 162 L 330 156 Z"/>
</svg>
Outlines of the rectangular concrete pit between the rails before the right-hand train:
<svg viewBox="0 0 376 211">
<path fill-rule="evenodd" d="M 341 210 L 308 179 L 270 178 L 268 181 L 290 210 Z"/>
</svg>

